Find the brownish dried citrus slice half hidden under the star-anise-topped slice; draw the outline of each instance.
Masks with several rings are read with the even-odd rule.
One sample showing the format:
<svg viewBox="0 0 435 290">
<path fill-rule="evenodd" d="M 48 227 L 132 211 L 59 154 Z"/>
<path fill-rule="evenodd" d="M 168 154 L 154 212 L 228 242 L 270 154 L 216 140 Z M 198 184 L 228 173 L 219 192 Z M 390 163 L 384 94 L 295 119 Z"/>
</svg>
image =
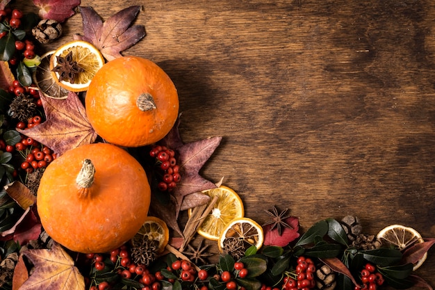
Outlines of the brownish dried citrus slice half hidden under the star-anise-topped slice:
<svg viewBox="0 0 435 290">
<path fill-rule="evenodd" d="M 35 86 L 37 86 L 46 97 L 66 99 L 68 97 L 68 90 L 59 86 L 58 82 L 54 80 L 51 74 L 50 58 L 53 54 L 54 50 L 41 56 L 41 63 L 36 67 L 32 75 L 33 83 L 35 83 Z"/>
</svg>

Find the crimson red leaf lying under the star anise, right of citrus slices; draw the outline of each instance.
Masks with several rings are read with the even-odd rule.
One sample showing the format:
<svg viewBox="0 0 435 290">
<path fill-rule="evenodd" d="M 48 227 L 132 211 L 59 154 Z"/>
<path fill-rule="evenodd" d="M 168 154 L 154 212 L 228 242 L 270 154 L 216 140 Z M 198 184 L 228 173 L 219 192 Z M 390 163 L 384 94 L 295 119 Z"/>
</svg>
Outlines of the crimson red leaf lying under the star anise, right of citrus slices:
<svg viewBox="0 0 435 290">
<path fill-rule="evenodd" d="M 284 220 L 290 227 L 283 227 L 281 234 L 277 228 L 272 229 L 271 225 L 265 225 L 263 227 L 264 235 L 264 245 L 277 245 L 279 247 L 285 247 L 288 243 L 295 241 L 299 238 L 299 219 L 295 216 L 290 216 Z"/>
</svg>

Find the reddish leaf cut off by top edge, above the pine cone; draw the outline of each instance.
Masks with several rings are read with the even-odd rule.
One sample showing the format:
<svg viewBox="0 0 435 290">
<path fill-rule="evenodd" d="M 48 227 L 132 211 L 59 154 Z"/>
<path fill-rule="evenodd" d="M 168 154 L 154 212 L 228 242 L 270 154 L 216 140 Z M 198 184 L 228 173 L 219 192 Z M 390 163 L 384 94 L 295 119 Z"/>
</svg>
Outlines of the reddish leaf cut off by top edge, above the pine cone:
<svg viewBox="0 0 435 290">
<path fill-rule="evenodd" d="M 64 22 L 74 15 L 73 9 L 80 5 L 80 0 L 33 0 L 33 4 L 40 8 L 38 15 L 42 19 Z"/>
</svg>

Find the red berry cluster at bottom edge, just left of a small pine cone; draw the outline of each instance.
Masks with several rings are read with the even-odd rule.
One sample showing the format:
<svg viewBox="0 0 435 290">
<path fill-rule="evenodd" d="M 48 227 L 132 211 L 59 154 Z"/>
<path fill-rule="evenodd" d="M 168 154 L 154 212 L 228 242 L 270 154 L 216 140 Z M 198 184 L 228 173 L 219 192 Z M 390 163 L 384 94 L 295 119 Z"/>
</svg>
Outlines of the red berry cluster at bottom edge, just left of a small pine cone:
<svg viewBox="0 0 435 290">
<path fill-rule="evenodd" d="M 299 257 L 297 259 L 297 266 L 295 268 L 294 277 L 284 277 L 283 289 L 297 290 L 297 289 L 313 289 L 315 287 L 315 265 L 310 258 Z"/>
</svg>

